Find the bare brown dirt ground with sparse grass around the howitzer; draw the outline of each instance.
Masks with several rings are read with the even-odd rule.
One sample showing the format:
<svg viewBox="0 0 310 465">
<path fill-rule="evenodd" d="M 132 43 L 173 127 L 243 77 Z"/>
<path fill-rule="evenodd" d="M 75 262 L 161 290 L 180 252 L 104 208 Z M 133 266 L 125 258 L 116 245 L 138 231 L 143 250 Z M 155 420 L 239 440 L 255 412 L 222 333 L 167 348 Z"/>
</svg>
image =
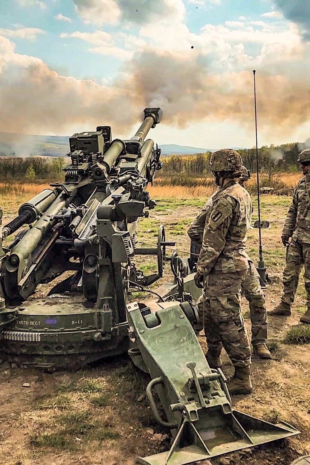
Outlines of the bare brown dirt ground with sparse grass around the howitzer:
<svg viewBox="0 0 310 465">
<path fill-rule="evenodd" d="M 280 234 L 289 203 L 290 199 L 284 197 L 263 196 L 262 199 L 262 219 L 271 221 L 271 229 L 262 235 L 264 259 L 272 278 L 265 292 L 268 309 L 277 305 L 281 296 L 285 250 Z M 203 199 L 159 201 L 152 217 L 141 221 L 139 239 L 154 244 L 158 225 L 162 223 L 167 239 L 176 239 L 176 248 L 188 251 L 185 231 L 202 204 Z M 13 213 L 14 208 L 10 214 Z M 251 257 L 257 261 L 257 230 L 249 234 L 248 247 Z M 152 272 L 154 259 L 145 257 L 142 268 Z M 37 296 L 47 291 L 46 286 L 39 286 Z M 292 316 L 270 318 L 273 359 L 252 359 L 253 394 L 233 398 L 235 409 L 272 423 L 286 421 L 301 434 L 232 453 L 226 463 L 290 465 L 298 456 L 310 453 L 310 346 L 283 343 L 286 332 L 290 326 L 298 325 L 304 311 L 301 282 Z M 244 299 L 243 312 L 250 332 L 249 310 Z M 204 345 L 202 335 L 199 341 Z M 228 376 L 233 372 L 226 355 L 224 372 Z M 138 455 L 167 450 L 170 437 L 155 424 L 145 399 L 148 381 L 126 357 L 104 361 L 79 372 L 55 373 L 25 370 L 2 362 L 0 463 L 132 465 Z M 29 383 L 29 387 L 23 387 L 24 383 Z M 221 464 L 221 459 L 211 459 L 211 464 Z"/>
</svg>

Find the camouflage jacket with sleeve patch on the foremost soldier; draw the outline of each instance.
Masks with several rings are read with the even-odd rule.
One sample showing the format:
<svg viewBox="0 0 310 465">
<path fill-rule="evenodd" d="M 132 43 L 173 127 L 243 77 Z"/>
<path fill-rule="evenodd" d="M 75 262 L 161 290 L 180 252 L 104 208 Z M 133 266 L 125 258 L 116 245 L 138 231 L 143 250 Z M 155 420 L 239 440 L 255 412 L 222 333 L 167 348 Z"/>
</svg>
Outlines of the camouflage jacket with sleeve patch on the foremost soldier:
<svg viewBox="0 0 310 465">
<path fill-rule="evenodd" d="M 193 241 L 202 243 L 199 273 L 206 277 L 211 270 L 231 273 L 249 267 L 245 241 L 252 208 L 250 194 L 236 181 L 211 195 L 188 230 Z"/>
</svg>

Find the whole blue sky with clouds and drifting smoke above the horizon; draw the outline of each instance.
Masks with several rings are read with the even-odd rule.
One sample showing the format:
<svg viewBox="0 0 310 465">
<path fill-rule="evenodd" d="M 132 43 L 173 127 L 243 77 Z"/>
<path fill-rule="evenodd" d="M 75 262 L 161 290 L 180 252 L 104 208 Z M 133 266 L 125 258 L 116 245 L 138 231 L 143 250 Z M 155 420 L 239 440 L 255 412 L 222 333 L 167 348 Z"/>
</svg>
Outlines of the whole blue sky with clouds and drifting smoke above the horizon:
<svg viewBox="0 0 310 465">
<path fill-rule="evenodd" d="M 151 105 L 160 144 L 252 146 L 256 68 L 259 144 L 304 141 L 308 3 L 2 0 L 0 131 L 128 137 Z"/>
</svg>

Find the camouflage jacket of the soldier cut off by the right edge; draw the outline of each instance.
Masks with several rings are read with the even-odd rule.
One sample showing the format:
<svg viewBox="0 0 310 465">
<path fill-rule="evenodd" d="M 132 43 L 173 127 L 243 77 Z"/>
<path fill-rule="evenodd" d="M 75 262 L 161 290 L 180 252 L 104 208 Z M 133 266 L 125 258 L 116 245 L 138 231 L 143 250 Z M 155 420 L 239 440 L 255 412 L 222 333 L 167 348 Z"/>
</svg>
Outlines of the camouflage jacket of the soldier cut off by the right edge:
<svg viewBox="0 0 310 465">
<path fill-rule="evenodd" d="M 292 240 L 310 244 L 310 175 L 303 176 L 297 183 L 293 201 L 286 216 L 282 234 Z"/>
</svg>

